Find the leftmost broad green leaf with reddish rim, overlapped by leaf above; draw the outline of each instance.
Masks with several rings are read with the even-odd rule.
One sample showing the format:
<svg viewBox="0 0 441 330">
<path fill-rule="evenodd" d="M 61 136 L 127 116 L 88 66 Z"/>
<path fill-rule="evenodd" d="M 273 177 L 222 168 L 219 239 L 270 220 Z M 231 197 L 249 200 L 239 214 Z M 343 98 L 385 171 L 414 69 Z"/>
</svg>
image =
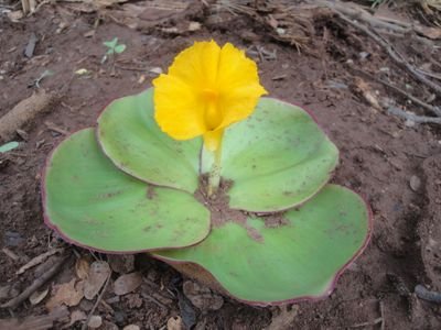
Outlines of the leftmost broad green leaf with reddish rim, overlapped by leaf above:
<svg viewBox="0 0 441 330">
<path fill-rule="evenodd" d="M 44 179 L 46 223 L 75 244 L 136 252 L 195 244 L 209 232 L 209 212 L 190 194 L 147 185 L 116 168 L 94 129 L 54 151 Z"/>
</svg>

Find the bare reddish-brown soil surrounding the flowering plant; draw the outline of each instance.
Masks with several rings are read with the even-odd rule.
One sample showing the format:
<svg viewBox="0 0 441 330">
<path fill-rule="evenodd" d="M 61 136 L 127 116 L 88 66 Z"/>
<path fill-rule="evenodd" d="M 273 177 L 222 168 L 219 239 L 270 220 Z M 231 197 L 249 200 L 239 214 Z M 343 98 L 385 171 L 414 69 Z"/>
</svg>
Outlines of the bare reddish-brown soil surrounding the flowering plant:
<svg viewBox="0 0 441 330">
<path fill-rule="evenodd" d="M 406 89 L 408 84 L 417 96 L 427 98 L 430 92 L 423 86 L 399 70 L 370 40 L 333 19 L 314 22 L 310 50 L 315 55 L 308 55 L 273 42 L 260 25 L 240 15 L 209 29 L 201 18 L 202 29 L 183 35 L 151 29 L 142 33 L 105 18 L 93 36 L 84 36 L 94 29 L 96 18 L 94 13 L 61 12 L 57 6 L 43 6 L 20 23 L 0 15 L 0 116 L 30 97 L 35 87 L 29 85 L 46 69 L 54 75 L 40 81 L 41 88 L 65 91 L 49 113 L 21 128 L 14 139 L 21 142 L 20 148 L 0 155 L 0 288 L 9 287 L 9 296 L 0 295 L 0 302 L 32 283 L 34 272 L 17 275 L 20 266 L 49 248 L 63 244 L 43 224 L 40 173 L 47 154 L 65 138 L 64 132 L 94 125 L 111 99 L 151 86 L 149 68 L 165 69 L 175 54 L 194 40 L 214 38 L 276 52 L 273 59 L 256 58 L 265 88 L 272 97 L 310 109 L 341 151 L 333 182 L 364 196 L 374 211 L 375 230 L 364 254 L 343 274 L 327 299 L 290 306 L 289 310 L 297 310 L 297 316 L 288 328 L 347 329 L 364 322 L 374 324 L 383 317 L 385 329 L 440 329 L 440 307 L 412 294 L 418 284 L 441 290 L 440 130 L 430 125 L 407 127 L 401 119 L 375 110 L 354 85 L 356 76 L 347 62 L 401 88 Z M 39 42 L 33 57 L 26 58 L 23 50 L 32 33 Z M 127 51 L 117 58 L 115 67 L 111 62 L 101 65 L 101 42 L 115 36 L 127 45 Z M 409 56 L 423 47 L 413 38 L 395 42 Z M 362 59 L 361 52 L 370 55 Z M 440 51 L 430 48 L 426 54 L 439 58 Z M 421 64 L 423 58 L 415 61 Z M 79 68 L 92 74 L 72 79 Z M 367 82 L 378 90 L 378 95 L 374 94 L 378 98 L 388 97 L 418 111 L 380 85 Z M 409 186 L 412 176 L 421 180 L 415 190 Z M 79 248 L 68 249 L 89 253 Z M 147 278 L 133 293 L 138 296 L 111 300 L 109 293 L 105 299 L 111 308 L 99 305 L 96 314 L 121 329 L 130 323 L 141 329 L 160 329 L 171 317 L 182 315 L 180 295 L 161 294 L 173 290 L 176 283 L 179 286 L 181 275 L 146 255 L 137 256 L 136 268 Z M 74 263 L 66 263 L 45 287 L 68 282 L 73 272 Z M 162 305 L 149 297 L 162 299 Z M 252 308 L 224 299 L 219 310 L 196 310 L 196 329 L 262 329 L 271 323 L 271 317 L 281 314 L 278 308 Z M 82 302 L 79 308 L 87 314 L 89 305 Z M 13 315 L 25 318 L 45 312 L 44 304 L 32 306 L 25 301 Z M 0 319 L 10 317 L 7 309 L 0 309 Z M 366 328 L 380 329 L 380 323 Z"/>
</svg>

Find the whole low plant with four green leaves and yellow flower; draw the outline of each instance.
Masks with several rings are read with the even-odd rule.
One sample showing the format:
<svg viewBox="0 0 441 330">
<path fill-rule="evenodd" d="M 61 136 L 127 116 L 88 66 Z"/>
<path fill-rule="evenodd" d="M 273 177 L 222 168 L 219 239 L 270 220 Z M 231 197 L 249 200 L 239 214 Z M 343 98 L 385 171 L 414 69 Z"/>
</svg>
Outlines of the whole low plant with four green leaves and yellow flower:
<svg viewBox="0 0 441 330">
<path fill-rule="evenodd" d="M 327 185 L 338 151 L 313 118 L 260 98 L 257 68 L 227 45 L 196 43 L 154 89 L 112 101 L 96 128 L 63 141 L 44 172 L 45 221 L 74 244 L 196 267 L 248 304 L 325 296 L 366 246 L 369 209 Z"/>
</svg>

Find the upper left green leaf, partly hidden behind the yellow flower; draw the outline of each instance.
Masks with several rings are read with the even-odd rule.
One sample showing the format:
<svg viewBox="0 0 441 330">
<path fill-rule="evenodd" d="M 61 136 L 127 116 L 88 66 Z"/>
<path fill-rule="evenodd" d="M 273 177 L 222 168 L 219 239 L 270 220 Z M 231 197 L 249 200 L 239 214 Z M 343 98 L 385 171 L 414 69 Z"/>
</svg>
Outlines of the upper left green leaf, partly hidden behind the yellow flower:
<svg viewBox="0 0 441 330">
<path fill-rule="evenodd" d="M 202 139 L 176 141 L 154 121 L 152 89 L 111 102 L 98 118 L 98 141 L 122 170 L 141 180 L 194 193 Z"/>
</svg>

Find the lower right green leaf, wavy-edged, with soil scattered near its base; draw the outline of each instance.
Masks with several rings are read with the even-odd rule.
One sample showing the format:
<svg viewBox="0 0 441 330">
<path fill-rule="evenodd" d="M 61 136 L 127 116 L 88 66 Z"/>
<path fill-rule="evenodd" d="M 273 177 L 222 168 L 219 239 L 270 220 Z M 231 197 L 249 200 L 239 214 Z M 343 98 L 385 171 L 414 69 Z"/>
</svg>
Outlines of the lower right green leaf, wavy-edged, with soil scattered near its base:
<svg viewBox="0 0 441 330">
<path fill-rule="evenodd" d="M 335 185 L 288 211 L 283 226 L 266 226 L 263 219 L 229 221 L 194 246 L 153 255 L 172 265 L 196 263 L 235 298 L 266 305 L 330 294 L 372 230 L 364 200 Z"/>
</svg>

